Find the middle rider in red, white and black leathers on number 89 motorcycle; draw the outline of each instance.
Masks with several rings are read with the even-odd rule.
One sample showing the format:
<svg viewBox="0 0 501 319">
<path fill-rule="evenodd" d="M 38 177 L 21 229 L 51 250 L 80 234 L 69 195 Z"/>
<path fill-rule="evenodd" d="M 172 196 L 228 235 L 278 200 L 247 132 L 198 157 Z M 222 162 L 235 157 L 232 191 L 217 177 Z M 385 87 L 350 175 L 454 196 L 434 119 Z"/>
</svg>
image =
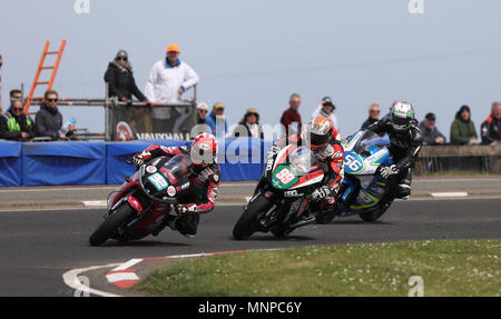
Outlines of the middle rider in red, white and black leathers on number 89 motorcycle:
<svg viewBox="0 0 501 319">
<path fill-rule="evenodd" d="M 330 119 L 323 116 L 316 116 L 303 128 L 301 134 L 295 133 L 291 137 L 279 139 L 269 149 L 267 158 L 274 157 L 287 144 L 308 147 L 316 156 L 318 166 L 325 175 L 322 186 L 312 192 L 311 199 L 313 200 L 313 206 L 333 206 L 344 177 L 344 150 L 338 137 L 340 133 L 333 127 Z M 264 180 L 264 177 L 262 177 L 262 180 Z M 259 189 L 262 180 L 257 185 L 256 190 Z M 308 215 L 304 218 L 306 220 L 314 219 L 314 217 Z"/>
</svg>

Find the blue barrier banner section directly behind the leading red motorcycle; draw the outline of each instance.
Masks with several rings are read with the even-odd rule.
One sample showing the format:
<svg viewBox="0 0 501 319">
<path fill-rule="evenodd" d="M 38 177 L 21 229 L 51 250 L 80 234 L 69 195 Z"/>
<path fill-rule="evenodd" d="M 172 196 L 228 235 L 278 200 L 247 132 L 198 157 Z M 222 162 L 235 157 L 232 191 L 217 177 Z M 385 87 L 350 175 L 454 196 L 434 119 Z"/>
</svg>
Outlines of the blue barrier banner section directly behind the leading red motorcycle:
<svg viewBox="0 0 501 319">
<path fill-rule="evenodd" d="M 131 141 L 131 142 L 109 142 L 107 143 L 106 154 L 106 183 L 116 185 L 122 183 L 125 177 L 130 177 L 136 170 L 134 165 L 126 161 L 131 159 L 135 153 L 141 152 L 146 148 L 160 144 L 165 147 L 186 146 L 190 142 L 177 140 L 148 140 L 148 141 Z"/>
</svg>

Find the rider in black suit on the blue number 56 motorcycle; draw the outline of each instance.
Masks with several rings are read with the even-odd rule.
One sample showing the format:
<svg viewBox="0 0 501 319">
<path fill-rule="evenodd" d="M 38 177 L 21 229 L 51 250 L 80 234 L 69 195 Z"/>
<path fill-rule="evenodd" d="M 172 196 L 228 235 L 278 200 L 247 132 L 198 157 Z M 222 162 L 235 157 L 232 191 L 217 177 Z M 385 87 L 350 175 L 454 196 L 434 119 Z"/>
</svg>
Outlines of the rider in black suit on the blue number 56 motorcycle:
<svg viewBox="0 0 501 319">
<path fill-rule="evenodd" d="M 389 150 L 396 163 L 381 167 L 380 173 L 393 185 L 396 198 L 407 199 L 411 196 L 412 171 L 423 143 L 413 107 L 409 102 L 395 101 L 390 114 L 370 126 L 367 130 L 387 133 L 391 143 Z"/>
</svg>

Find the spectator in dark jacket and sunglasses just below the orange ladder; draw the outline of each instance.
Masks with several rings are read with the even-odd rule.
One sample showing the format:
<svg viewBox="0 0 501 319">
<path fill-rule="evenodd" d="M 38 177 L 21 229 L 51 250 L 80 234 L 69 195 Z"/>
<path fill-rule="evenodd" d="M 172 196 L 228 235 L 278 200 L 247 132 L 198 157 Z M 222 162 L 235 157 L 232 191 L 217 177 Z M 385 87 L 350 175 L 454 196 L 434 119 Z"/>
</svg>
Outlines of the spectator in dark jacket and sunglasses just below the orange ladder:
<svg viewBox="0 0 501 319">
<path fill-rule="evenodd" d="M 62 128 L 62 114 L 58 110 L 58 92 L 53 90 L 43 94 L 43 102 L 35 116 L 35 126 L 39 137 L 50 137 L 52 140 L 67 139 L 76 129 L 73 124 Z"/>
</svg>

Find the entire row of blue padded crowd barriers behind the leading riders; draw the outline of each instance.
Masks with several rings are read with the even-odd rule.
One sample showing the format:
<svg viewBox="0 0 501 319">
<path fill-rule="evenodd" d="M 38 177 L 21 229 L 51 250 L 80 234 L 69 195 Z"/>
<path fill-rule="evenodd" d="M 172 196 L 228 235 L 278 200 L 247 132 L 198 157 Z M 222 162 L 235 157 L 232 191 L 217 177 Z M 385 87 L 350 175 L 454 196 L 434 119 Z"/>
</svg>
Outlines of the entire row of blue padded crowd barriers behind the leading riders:
<svg viewBox="0 0 501 319">
<path fill-rule="evenodd" d="M 190 142 L 0 141 L 0 187 L 121 183 L 135 170 L 126 160 L 155 143 L 170 147 Z M 257 180 L 271 146 L 272 141 L 252 138 L 232 138 L 219 142 L 222 181 Z"/>
</svg>

